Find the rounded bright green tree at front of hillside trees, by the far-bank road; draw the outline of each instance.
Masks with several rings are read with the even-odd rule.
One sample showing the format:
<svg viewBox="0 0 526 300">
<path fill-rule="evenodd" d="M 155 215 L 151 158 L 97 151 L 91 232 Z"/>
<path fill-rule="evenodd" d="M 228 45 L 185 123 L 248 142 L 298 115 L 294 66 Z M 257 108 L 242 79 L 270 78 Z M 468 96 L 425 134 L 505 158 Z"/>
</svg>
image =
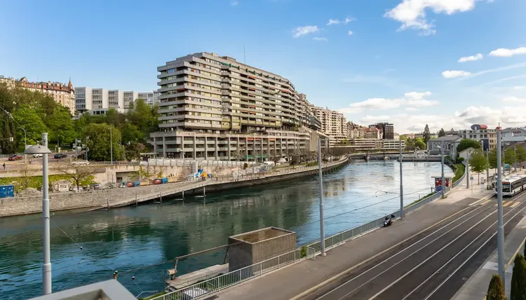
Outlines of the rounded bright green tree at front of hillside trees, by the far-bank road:
<svg viewBox="0 0 526 300">
<path fill-rule="evenodd" d="M 114 161 L 122 159 L 122 149 L 119 144 L 121 131 L 117 128 L 112 128 L 112 138 L 110 139 L 111 126 L 106 123 L 96 124 L 92 123 L 86 125 L 83 136 L 88 137 L 88 159 L 91 161 L 111 161 L 111 152 L 113 151 Z M 112 146 L 110 145 L 112 141 Z"/>
</svg>

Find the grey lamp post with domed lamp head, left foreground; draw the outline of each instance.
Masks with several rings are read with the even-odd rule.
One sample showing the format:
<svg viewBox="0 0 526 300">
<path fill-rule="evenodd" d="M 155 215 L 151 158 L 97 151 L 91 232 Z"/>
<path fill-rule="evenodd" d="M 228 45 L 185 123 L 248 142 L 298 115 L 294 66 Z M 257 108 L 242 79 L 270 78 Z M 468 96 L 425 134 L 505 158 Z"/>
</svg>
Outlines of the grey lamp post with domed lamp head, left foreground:
<svg viewBox="0 0 526 300">
<path fill-rule="evenodd" d="M 49 237 L 49 179 L 48 179 L 48 133 L 42 133 L 42 144 L 30 146 L 25 149 L 24 154 L 42 154 L 42 292 L 51 294 L 51 254 Z"/>
</svg>

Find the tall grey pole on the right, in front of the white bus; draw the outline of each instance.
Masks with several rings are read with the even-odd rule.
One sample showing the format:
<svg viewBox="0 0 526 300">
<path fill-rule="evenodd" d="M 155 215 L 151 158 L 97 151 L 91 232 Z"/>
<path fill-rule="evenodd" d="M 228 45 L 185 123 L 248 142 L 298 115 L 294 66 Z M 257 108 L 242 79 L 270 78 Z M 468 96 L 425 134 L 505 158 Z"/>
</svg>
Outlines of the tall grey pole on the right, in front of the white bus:
<svg viewBox="0 0 526 300">
<path fill-rule="evenodd" d="M 504 274 L 504 225 L 502 221 L 502 162 L 501 162 L 501 130 L 497 130 L 497 257 L 499 259 L 499 275 L 505 283 Z M 504 285 L 506 287 L 506 285 Z"/>
</svg>

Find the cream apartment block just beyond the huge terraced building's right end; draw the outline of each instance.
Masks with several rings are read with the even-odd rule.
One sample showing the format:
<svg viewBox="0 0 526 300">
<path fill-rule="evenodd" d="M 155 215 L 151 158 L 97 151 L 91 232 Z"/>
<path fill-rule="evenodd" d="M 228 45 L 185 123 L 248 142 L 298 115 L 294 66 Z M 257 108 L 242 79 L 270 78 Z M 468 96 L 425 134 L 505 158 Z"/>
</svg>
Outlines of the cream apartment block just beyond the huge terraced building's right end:
<svg viewBox="0 0 526 300">
<path fill-rule="evenodd" d="M 321 131 L 330 137 L 330 145 L 335 146 L 347 137 L 347 119 L 344 114 L 323 107 L 312 107 L 314 116 L 321 121 Z"/>
</svg>

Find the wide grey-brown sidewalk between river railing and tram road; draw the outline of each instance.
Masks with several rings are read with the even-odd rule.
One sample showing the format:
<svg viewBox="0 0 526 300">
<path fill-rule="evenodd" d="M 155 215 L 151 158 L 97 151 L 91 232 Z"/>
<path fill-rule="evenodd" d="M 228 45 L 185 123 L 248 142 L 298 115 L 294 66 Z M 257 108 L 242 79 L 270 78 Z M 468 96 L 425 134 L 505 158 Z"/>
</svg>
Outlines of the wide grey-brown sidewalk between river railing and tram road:
<svg viewBox="0 0 526 300">
<path fill-rule="evenodd" d="M 473 189 L 474 191 L 474 189 Z M 393 247 L 401 241 L 433 226 L 438 221 L 468 207 L 480 198 L 490 198 L 492 191 L 471 194 L 471 189 L 460 185 L 447 194 L 407 214 L 386 230 L 375 230 L 334 247 L 326 257 L 306 259 L 261 277 L 225 289 L 217 299 L 276 299 L 287 300 L 325 281 L 336 280 L 353 266 Z"/>
</svg>

